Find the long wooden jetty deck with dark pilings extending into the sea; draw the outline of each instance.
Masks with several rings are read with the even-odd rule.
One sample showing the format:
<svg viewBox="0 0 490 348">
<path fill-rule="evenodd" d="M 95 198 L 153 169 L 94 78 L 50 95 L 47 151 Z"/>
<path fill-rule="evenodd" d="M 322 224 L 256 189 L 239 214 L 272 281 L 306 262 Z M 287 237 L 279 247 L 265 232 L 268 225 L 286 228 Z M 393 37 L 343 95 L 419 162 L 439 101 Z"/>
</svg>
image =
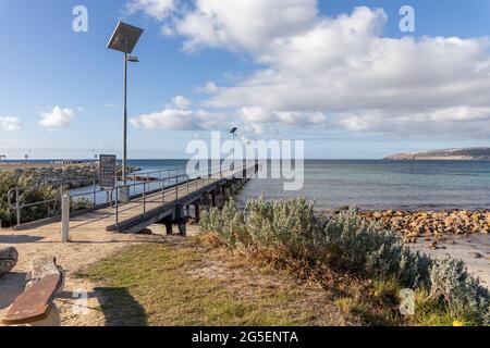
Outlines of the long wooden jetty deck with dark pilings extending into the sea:
<svg viewBox="0 0 490 348">
<path fill-rule="evenodd" d="M 257 165 L 233 172 L 187 179 L 163 189 L 144 190 L 128 202 L 120 199 L 105 207 L 77 212 L 70 219 L 70 232 L 108 231 L 140 233 L 151 224 L 161 223 L 167 232 L 177 225 L 185 235 L 185 223 L 193 207 L 193 217 L 199 220 L 200 209 L 221 207 L 247 179 L 247 173 L 256 173 Z M 247 172 L 248 171 L 248 172 Z M 145 186 L 146 187 L 146 186 Z M 29 222 L 15 227 L 17 231 L 61 231 L 61 216 Z"/>
</svg>

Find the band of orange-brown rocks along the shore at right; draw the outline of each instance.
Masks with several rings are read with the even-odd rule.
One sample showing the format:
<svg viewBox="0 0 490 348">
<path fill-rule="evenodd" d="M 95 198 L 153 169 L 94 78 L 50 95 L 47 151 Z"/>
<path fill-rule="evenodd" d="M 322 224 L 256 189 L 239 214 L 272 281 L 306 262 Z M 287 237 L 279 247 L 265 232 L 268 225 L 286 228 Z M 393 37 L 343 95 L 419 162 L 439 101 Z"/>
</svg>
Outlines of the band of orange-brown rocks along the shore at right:
<svg viewBox="0 0 490 348">
<path fill-rule="evenodd" d="M 407 243 L 416 243 L 425 237 L 437 241 L 448 236 L 467 236 L 470 234 L 490 234 L 490 211 L 452 210 L 452 211 L 360 211 L 359 215 L 382 224 L 387 229 L 399 232 Z"/>
</svg>

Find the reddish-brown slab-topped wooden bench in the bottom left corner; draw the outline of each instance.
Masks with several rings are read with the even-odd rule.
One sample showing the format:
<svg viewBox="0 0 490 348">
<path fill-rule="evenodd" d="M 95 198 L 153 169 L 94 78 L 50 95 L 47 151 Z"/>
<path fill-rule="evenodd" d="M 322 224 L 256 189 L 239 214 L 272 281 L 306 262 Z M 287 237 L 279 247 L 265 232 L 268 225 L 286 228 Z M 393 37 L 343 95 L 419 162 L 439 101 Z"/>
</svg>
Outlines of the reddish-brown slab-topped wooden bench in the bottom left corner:
<svg viewBox="0 0 490 348">
<path fill-rule="evenodd" d="M 64 286 L 63 270 L 53 257 L 32 260 L 24 293 L 16 298 L 2 319 L 5 325 L 36 324 L 53 314 L 53 303 Z M 47 322 L 46 325 L 49 325 Z"/>
</svg>

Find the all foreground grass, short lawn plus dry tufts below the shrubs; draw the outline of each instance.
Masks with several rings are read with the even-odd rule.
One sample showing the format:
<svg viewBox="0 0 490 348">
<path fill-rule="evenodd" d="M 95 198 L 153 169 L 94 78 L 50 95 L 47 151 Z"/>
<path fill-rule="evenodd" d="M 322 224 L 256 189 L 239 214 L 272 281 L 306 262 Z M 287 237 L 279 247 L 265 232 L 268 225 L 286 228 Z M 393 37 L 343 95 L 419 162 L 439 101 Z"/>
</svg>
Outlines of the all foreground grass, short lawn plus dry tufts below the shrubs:
<svg viewBox="0 0 490 348">
<path fill-rule="evenodd" d="M 424 294 L 415 316 L 400 315 L 395 281 L 284 268 L 212 234 L 127 247 L 77 276 L 100 285 L 106 325 L 452 324 Z"/>
</svg>

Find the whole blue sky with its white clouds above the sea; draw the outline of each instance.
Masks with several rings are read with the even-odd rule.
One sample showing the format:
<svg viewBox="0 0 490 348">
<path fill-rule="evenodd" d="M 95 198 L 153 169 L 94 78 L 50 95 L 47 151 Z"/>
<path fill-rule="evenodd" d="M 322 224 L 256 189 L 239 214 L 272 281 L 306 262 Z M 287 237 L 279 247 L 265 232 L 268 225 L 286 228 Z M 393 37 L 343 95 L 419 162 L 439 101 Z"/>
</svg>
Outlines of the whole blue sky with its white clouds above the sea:
<svg viewBox="0 0 490 348">
<path fill-rule="evenodd" d="M 295 12 L 272 25 L 279 3 Z M 399 28 L 404 4 L 415 33 Z M 72 30 L 75 5 L 88 33 Z M 220 7 L 0 0 L 0 154 L 120 154 L 123 61 L 106 49 L 119 20 L 145 28 L 130 66 L 131 158 L 185 158 L 188 141 L 231 125 L 242 139 L 304 139 L 307 158 L 489 145 L 488 1 L 274 0 L 247 21 Z"/>
</svg>

